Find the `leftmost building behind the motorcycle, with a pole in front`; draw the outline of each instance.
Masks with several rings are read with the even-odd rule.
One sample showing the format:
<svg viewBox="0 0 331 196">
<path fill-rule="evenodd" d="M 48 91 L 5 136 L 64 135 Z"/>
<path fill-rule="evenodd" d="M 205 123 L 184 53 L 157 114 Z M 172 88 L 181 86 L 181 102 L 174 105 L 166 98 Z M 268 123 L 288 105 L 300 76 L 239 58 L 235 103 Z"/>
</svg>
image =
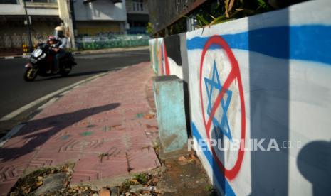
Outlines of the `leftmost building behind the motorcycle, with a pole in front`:
<svg viewBox="0 0 331 196">
<path fill-rule="evenodd" d="M 26 0 L 33 43 L 53 34 L 61 23 L 56 0 Z M 0 48 L 21 50 L 28 44 L 26 12 L 23 0 L 0 0 Z"/>
</svg>

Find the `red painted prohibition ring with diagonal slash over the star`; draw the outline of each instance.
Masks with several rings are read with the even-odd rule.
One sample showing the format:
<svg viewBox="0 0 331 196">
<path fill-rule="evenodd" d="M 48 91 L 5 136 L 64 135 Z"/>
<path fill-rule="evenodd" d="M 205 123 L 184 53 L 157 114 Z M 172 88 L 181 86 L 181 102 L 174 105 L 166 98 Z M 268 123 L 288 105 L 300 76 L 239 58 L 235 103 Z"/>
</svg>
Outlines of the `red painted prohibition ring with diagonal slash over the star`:
<svg viewBox="0 0 331 196">
<path fill-rule="evenodd" d="M 208 121 L 206 121 L 206 116 L 204 114 L 204 100 L 202 97 L 202 70 L 204 67 L 204 57 L 206 55 L 206 52 L 209 50 L 211 45 L 219 45 L 221 48 L 223 48 L 226 52 L 226 55 L 228 56 L 228 60 L 230 61 L 231 64 L 231 71 L 228 74 L 228 77 L 226 78 L 224 85 L 222 87 L 221 92 L 216 97 L 216 101 L 214 106 L 211 108 L 211 114 L 209 116 Z M 209 140 L 209 146 L 210 146 L 210 131 L 211 131 L 211 123 L 212 119 L 215 115 L 216 109 L 219 107 L 219 104 L 221 103 L 221 99 L 224 96 L 224 93 L 228 87 L 237 79 L 238 80 L 238 89 L 239 89 L 239 96 L 240 96 L 240 102 L 241 102 L 241 143 L 240 143 L 240 148 L 238 150 L 238 158 L 231 169 L 226 169 L 224 167 L 224 164 L 219 160 L 218 156 L 215 153 L 214 147 L 211 147 L 211 153 L 213 154 L 217 165 L 219 165 L 219 168 L 221 171 L 224 173 L 226 178 L 228 180 L 233 180 L 236 178 L 236 175 L 238 174 L 240 168 L 241 168 L 241 163 L 243 162 L 243 153 L 244 153 L 244 144 L 245 144 L 245 134 L 246 134 L 246 113 L 245 113 L 245 101 L 243 99 L 243 85 L 241 83 L 241 75 L 240 75 L 240 70 L 239 70 L 239 65 L 234 57 L 231 48 L 228 46 L 226 41 L 221 37 L 221 36 L 211 36 L 209 40 L 207 40 L 206 44 L 204 45 L 204 50 L 202 51 L 201 54 L 201 62 L 200 62 L 200 99 L 201 99 L 201 109 L 202 109 L 202 117 L 204 120 L 204 127 L 206 129 L 206 136 L 207 139 Z"/>
</svg>

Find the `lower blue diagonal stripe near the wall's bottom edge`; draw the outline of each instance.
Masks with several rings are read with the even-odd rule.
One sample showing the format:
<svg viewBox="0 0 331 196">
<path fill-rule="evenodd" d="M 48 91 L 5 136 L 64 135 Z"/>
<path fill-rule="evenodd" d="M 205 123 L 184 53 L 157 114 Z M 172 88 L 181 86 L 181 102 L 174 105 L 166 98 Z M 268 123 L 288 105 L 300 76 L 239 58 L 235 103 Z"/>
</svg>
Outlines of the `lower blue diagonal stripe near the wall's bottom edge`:
<svg viewBox="0 0 331 196">
<path fill-rule="evenodd" d="M 191 126 L 192 126 L 192 135 L 194 136 L 194 138 L 196 138 L 197 141 L 199 141 L 199 139 L 202 139 L 198 129 L 196 129 L 196 126 L 194 125 L 194 122 L 191 122 Z M 228 180 L 226 180 L 224 175 L 221 173 L 221 170 L 219 170 L 219 166 L 217 165 L 216 160 L 214 160 L 211 151 L 207 150 L 203 152 L 204 152 L 204 156 L 209 162 L 209 165 L 214 171 L 214 176 L 216 177 L 217 182 L 224 190 L 225 195 L 230 195 L 230 196 L 236 195 L 233 192 L 231 185 L 228 183 Z"/>
</svg>

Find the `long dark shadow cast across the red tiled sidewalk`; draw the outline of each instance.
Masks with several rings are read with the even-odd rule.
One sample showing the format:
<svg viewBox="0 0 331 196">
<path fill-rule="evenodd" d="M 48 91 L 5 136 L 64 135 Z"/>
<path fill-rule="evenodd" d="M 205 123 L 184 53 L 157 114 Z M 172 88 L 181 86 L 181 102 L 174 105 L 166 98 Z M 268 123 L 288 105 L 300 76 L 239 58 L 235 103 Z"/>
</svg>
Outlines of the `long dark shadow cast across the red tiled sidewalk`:
<svg viewBox="0 0 331 196">
<path fill-rule="evenodd" d="M 88 116 L 99 114 L 103 111 L 109 111 L 119 107 L 119 103 L 107 104 L 100 107 L 93 107 L 89 109 L 81 109 L 71 113 L 58 114 L 49 116 L 43 119 L 36 119 L 28 121 L 21 132 L 16 137 L 21 137 L 23 143 L 13 143 L 5 148 L 0 148 L 0 161 L 6 162 L 14 160 L 28 153 L 31 153 L 48 141 L 51 136 L 57 134 L 59 131 L 71 126 L 78 121 L 81 121 Z M 43 129 L 48 129 L 42 131 Z M 19 146 L 23 144 L 23 146 Z M 13 146 L 13 148 L 11 148 Z"/>
</svg>

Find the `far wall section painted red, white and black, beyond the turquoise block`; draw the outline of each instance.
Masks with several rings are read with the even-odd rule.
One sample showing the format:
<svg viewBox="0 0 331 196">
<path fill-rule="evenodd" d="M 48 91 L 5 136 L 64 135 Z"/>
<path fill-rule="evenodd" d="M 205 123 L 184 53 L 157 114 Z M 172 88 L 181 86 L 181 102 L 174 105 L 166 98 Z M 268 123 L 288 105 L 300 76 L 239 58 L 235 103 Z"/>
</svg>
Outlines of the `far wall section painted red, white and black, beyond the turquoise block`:
<svg viewBox="0 0 331 196">
<path fill-rule="evenodd" d="M 149 51 L 157 75 L 177 75 L 183 79 L 179 35 L 149 40 Z"/>
</svg>

